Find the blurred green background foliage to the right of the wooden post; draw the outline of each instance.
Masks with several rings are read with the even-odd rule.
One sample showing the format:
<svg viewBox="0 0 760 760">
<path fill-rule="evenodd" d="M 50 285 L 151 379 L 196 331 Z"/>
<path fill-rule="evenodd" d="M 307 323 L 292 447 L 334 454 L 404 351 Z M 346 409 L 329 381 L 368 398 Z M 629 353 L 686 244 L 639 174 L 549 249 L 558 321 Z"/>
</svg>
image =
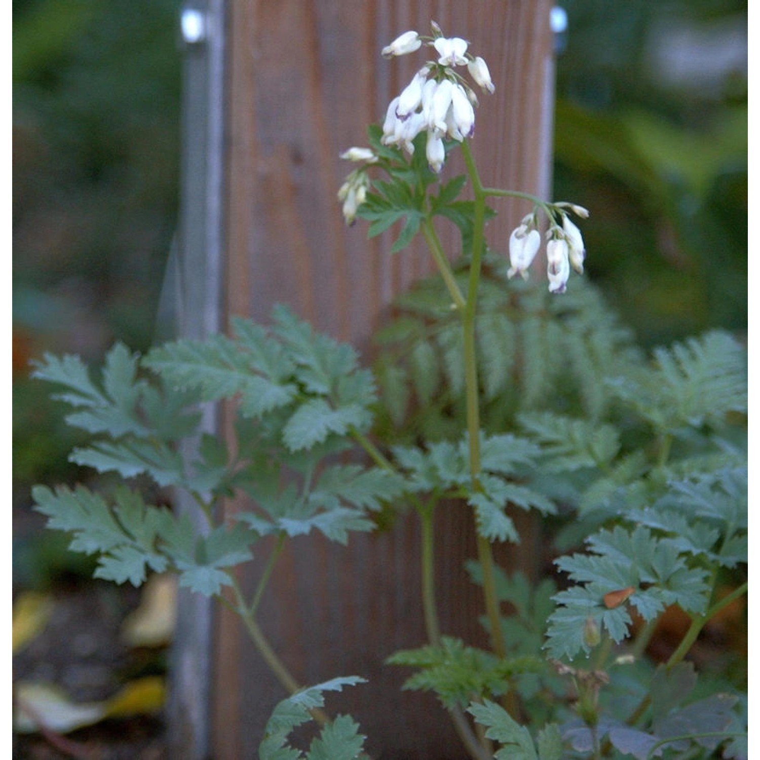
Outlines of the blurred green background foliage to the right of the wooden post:
<svg viewBox="0 0 760 760">
<path fill-rule="evenodd" d="M 747 4 L 563 0 L 555 195 L 646 345 L 747 320 Z"/>
</svg>

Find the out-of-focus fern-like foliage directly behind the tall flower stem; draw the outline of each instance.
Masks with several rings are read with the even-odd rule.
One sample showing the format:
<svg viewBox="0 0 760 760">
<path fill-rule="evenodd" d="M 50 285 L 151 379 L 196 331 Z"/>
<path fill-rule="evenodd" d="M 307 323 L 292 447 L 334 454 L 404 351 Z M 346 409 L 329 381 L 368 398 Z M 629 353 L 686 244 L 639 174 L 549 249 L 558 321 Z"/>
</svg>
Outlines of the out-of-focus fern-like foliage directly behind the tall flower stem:
<svg viewBox="0 0 760 760">
<path fill-rule="evenodd" d="M 463 290 L 466 264 L 454 270 Z M 505 258 L 490 252 L 476 323 L 483 426 L 503 432 L 518 413 L 541 410 L 603 419 L 615 396 L 602 379 L 627 375 L 641 362 L 632 334 L 583 280 L 558 299 L 546 283 L 508 281 L 506 272 Z M 384 431 L 391 440 L 458 438 L 464 363 L 451 297 L 439 278 L 429 278 L 396 306 L 397 318 L 375 336 Z"/>
</svg>

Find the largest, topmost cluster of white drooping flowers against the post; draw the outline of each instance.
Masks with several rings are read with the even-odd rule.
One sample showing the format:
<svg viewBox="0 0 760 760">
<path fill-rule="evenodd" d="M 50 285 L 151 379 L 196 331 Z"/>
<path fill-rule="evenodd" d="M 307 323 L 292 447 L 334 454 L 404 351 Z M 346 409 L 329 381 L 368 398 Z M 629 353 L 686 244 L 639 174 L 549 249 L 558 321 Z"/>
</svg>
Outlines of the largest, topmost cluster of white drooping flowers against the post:
<svg viewBox="0 0 760 760">
<path fill-rule="evenodd" d="M 461 142 L 471 137 L 475 129 L 473 106 L 477 105 L 477 97 L 454 68 L 467 66 L 470 76 L 485 92 L 492 93 L 494 86 L 486 62 L 467 52 L 467 40 L 442 36 L 438 24 L 432 24 L 432 33 L 432 37 L 423 37 L 415 31 L 404 32 L 382 50 L 385 58 L 392 58 L 414 52 L 425 44 L 437 54 L 391 100 L 383 123 L 382 142 L 412 153 L 414 138 L 426 131 L 426 157 L 432 171 L 438 173 L 446 157 L 443 138 Z"/>
</svg>

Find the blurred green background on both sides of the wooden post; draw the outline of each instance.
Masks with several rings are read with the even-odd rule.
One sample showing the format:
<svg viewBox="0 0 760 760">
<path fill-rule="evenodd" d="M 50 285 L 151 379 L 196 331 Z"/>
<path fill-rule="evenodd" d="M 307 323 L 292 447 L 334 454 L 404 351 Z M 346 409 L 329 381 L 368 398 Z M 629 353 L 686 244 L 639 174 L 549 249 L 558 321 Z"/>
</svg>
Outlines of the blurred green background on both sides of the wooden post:
<svg viewBox="0 0 760 760">
<path fill-rule="evenodd" d="M 592 211 L 587 277 L 644 345 L 710 327 L 744 337 L 746 0 L 561 5 L 555 198 Z M 154 337 L 179 195 L 178 12 L 13 3 L 14 519 L 31 484 L 77 475 L 29 359 L 94 362 L 113 340 Z M 24 543 L 15 580 L 56 561 Z"/>
</svg>

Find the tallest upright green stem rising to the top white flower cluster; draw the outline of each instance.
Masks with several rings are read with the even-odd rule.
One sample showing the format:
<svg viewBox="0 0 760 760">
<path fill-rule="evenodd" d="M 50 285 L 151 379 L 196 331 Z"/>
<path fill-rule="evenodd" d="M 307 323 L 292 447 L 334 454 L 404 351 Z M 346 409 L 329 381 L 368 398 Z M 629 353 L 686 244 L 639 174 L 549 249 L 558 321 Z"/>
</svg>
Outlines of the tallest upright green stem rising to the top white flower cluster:
<svg viewBox="0 0 760 760">
<path fill-rule="evenodd" d="M 486 221 L 486 192 L 480 181 L 477 166 L 470 145 L 462 141 L 462 154 L 467 164 L 467 173 L 473 185 L 474 220 L 473 250 L 470 259 L 470 279 L 467 287 L 467 305 L 462 312 L 464 331 L 464 378 L 467 394 L 467 435 L 470 446 L 470 476 L 473 488 L 478 488 L 480 476 L 480 397 L 477 377 L 475 347 L 475 315 L 477 307 L 477 289 L 480 283 L 480 268 L 483 261 L 483 233 Z M 478 535 L 477 553 L 483 572 L 483 597 L 486 615 L 491 629 L 492 648 L 497 657 L 506 657 L 507 648 L 502 631 L 502 619 L 499 610 L 499 597 L 496 594 L 496 578 L 493 572 L 493 553 L 488 539 Z"/>
</svg>

